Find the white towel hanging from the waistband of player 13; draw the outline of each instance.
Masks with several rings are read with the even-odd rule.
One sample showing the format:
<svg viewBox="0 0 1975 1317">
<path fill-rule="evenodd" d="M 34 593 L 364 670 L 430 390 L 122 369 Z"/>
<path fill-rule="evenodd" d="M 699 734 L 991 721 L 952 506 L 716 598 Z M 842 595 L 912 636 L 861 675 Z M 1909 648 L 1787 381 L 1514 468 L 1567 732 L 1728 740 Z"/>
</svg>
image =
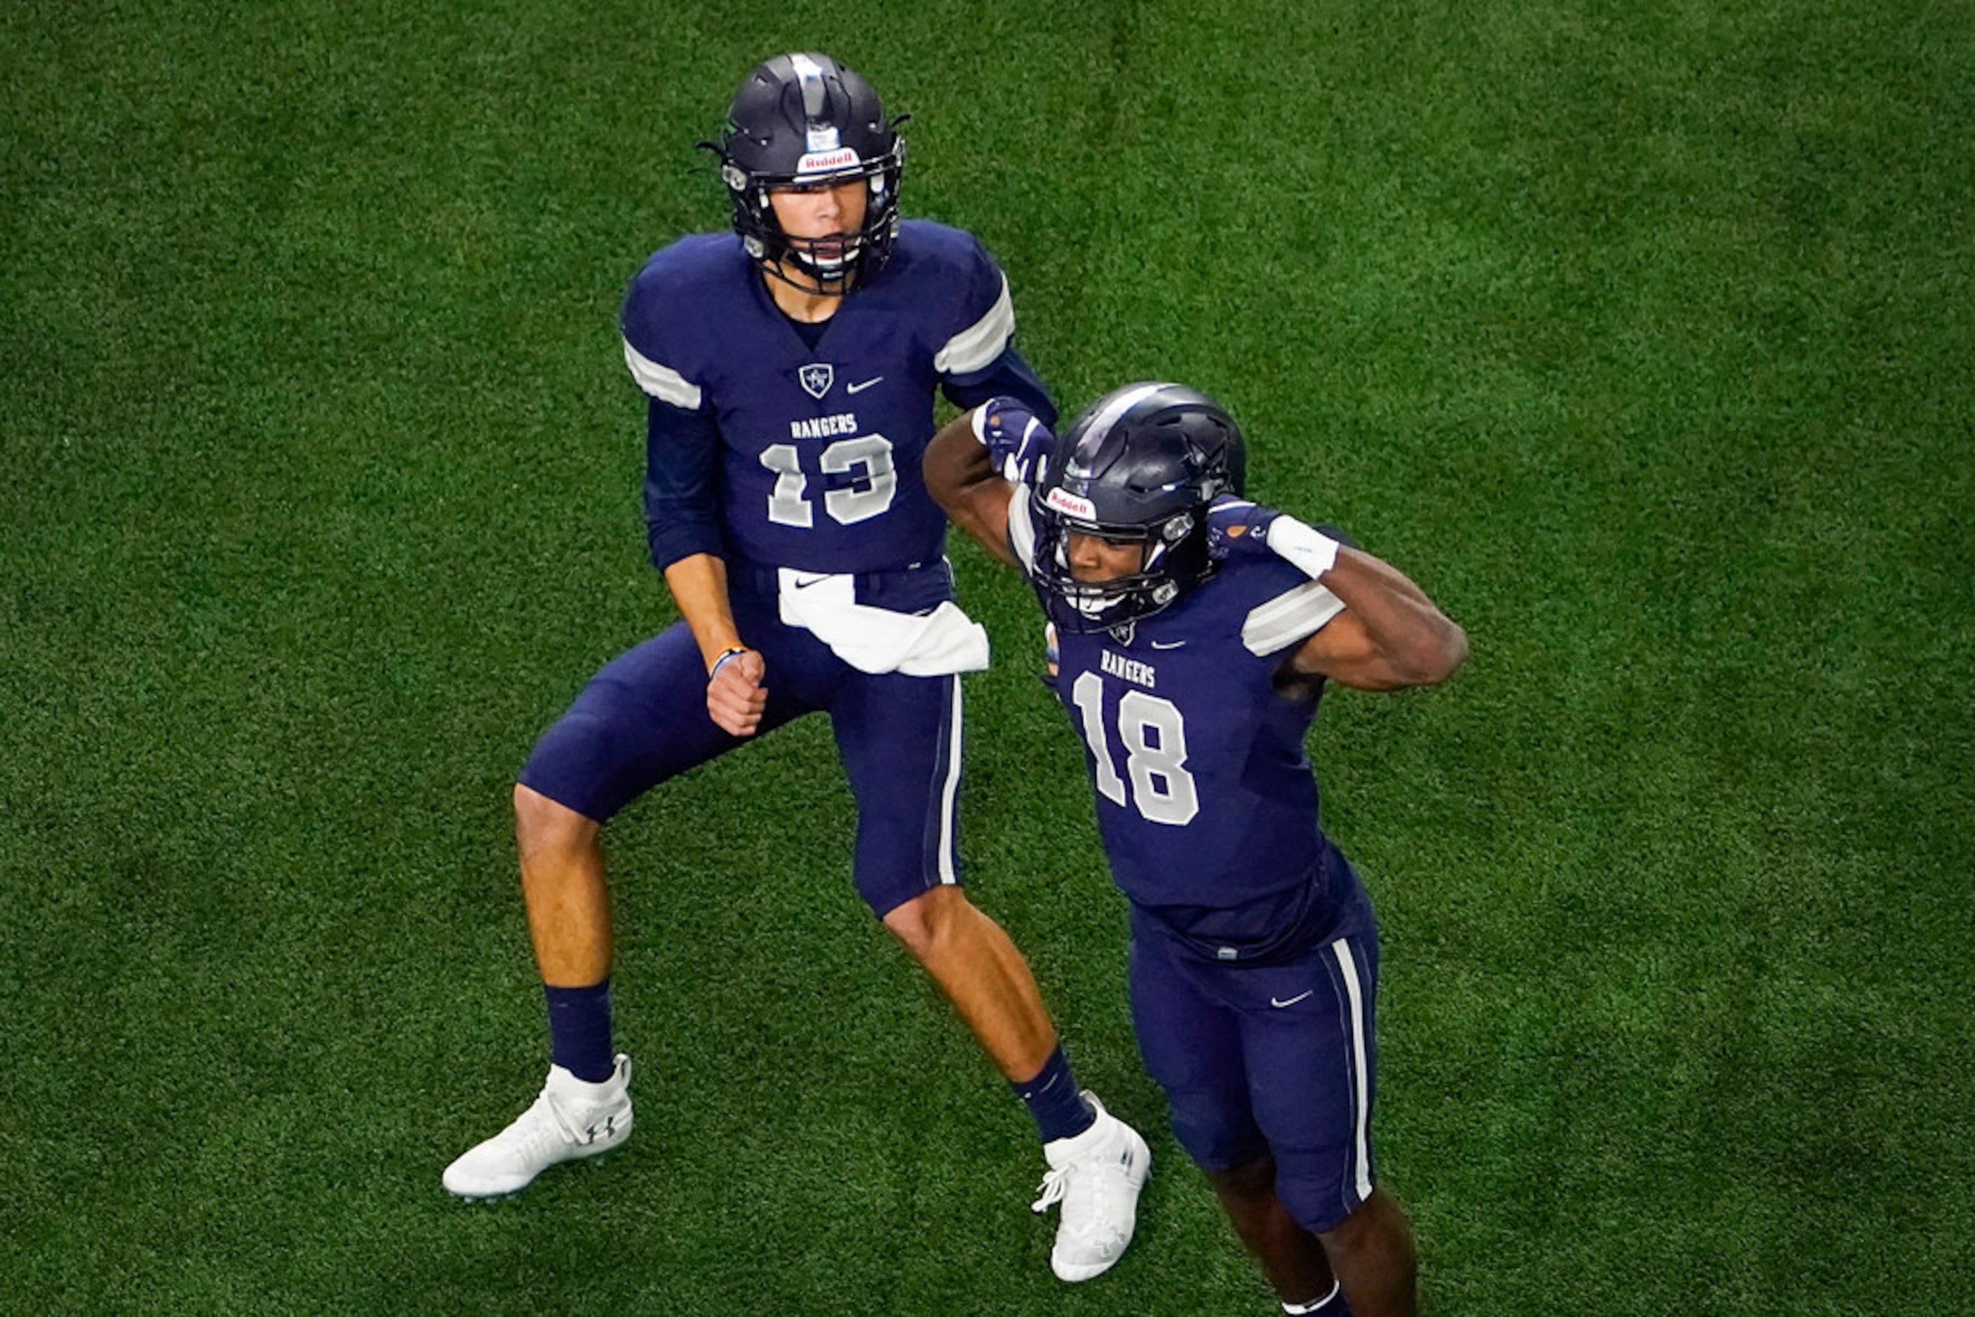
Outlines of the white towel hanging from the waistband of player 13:
<svg viewBox="0 0 1975 1317">
<path fill-rule="evenodd" d="M 952 600 L 926 614 L 873 608 L 857 602 L 853 577 L 794 567 L 776 569 L 776 586 L 782 620 L 806 628 L 857 671 L 940 677 L 988 665 L 988 628 Z"/>
</svg>

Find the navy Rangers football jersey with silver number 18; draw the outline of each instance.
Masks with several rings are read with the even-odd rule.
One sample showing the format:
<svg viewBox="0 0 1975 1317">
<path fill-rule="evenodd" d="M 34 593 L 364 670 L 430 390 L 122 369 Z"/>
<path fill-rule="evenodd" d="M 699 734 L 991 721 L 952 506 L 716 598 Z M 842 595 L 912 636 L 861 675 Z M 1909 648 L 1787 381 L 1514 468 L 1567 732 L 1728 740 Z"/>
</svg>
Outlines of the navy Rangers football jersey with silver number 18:
<svg viewBox="0 0 1975 1317">
<path fill-rule="evenodd" d="M 1017 490 L 1009 505 L 1025 567 L 1027 502 Z M 1296 697 L 1276 685 L 1341 610 L 1290 563 L 1238 553 L 1163 612 L 1059 636 L 1051 685 L 1084 738 L 1112 879 L 1205 956 L 1294 954 L 1355 887 L 1317 825 L 1304 752 L 1321 683 Z"/>
</svg>

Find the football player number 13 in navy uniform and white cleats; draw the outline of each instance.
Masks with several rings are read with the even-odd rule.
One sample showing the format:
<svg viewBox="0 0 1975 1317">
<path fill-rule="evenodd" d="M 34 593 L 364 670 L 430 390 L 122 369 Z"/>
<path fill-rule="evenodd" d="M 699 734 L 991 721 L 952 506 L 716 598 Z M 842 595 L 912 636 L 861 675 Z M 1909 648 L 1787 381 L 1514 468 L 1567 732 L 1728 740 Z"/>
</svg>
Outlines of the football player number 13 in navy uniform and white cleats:
<svg viewBox="0 0 1975 1317">
<path fill-rule="evenodd" d="M 1051 1262 L 1086 1279 L 1130 1242 L 1149 1153 L 1078 1090 L 1027 962 L 960 887 L 960 673 L 986 667 L 988 636 L 952 602 L 946 517 L 920 476 L 936 393 L 1053 417 L 1049 393 L 1013 348 L 993 259 L 901 219 L 905 138 L 863 77 L 778 55 L 727 118 L 707 146 L 735 231 L 654 255 L 622 316 L 648 395 L 652 561 L 681 620 L 604 665 L 521 768 L 553 1064 L 444 1185 L 506 1195 L 624 1141 L 598 831 L 660 782 L 828 713 L 857 800 L 857 891 L 1035 1116 L 1043 1206 L 1063 1204 Z"/>
</svg>

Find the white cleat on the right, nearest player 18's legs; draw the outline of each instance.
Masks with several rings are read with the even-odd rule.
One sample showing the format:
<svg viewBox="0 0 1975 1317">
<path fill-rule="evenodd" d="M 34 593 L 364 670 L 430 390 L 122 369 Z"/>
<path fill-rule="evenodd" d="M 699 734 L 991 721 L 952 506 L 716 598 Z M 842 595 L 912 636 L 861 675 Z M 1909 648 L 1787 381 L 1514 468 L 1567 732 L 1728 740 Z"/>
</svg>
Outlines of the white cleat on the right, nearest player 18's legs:
<svg viewBox="0 0 1975 1317">
<path fill-rule="evenodd" d="M 1100 1276 L 1124 1256 L 1138 1226 L 1138 1191 L 1151 1173 L 1151 1149 L 1138 1129 L 1106 1112 L 1088 1088 L 1084 1100 L 1098 1120 L 1074 1139 L 1043 1143 L 1049 1175 L 1033 1202 L 1037 1212 L 1063 1204 L 1049 1268 L 1068 1281 Z"/>
</svg>

